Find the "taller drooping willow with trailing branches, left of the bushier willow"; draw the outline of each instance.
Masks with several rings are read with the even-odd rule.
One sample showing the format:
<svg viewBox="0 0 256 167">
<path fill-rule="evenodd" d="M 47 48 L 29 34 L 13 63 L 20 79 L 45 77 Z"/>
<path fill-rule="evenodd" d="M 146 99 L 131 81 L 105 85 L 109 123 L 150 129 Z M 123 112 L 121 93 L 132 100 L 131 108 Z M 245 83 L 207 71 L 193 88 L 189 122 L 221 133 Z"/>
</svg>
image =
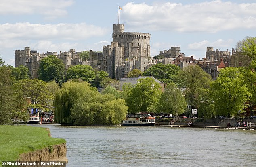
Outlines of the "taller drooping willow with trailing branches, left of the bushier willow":
<svg viewBox="0 0 256 167">
<path fill-rule="evenodd" d="M 73 124 L 71 108 L 80 99 L 87 99 L 98 94 L 95 88 L 87 82 L 66 82 L 56 93 L 53 106 L 55 108 L 55 121 L 60 124 Z"/>
</svg>

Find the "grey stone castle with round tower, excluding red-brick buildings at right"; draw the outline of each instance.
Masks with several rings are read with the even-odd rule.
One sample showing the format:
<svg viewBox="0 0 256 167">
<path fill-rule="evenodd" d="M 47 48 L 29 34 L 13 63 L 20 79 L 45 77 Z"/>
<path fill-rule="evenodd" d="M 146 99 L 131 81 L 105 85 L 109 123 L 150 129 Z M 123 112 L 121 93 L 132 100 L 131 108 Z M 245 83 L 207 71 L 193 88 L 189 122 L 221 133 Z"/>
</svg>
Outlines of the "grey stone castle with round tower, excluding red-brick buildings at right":
<svg viewBox="0 0 256 167">
<path fill-rule="evenodd" d="M 38 53 L 25 47 L 24 50 L 15 50 L 15 67 L 24 65 L 31 72 L 31 78 L 38 77 L 40 60 L 48 55 L 55 55 L 63 60 L 65 68 L 72 65 L 90 65 L 92 68 L 106 71 L 109 77 L 120 79 L 133 69 L 142 72 L 157 63 L 172 64 L 172 58 L 177 57 L 180 47 L 173 47 L 162 59 L 151 59 L 150 56 L 150 34 L 137 32 L 124 32 L 124 24 L 113 24 L 113 41 L 111 45 L 103 46 L 103 52 L 90 50 L 89 59 L 82 60 L 80 52 L 69 49 L 69 52 L 46 52 Z M 160 51 L 160 54 L 163 54 Z"/>
</svg>

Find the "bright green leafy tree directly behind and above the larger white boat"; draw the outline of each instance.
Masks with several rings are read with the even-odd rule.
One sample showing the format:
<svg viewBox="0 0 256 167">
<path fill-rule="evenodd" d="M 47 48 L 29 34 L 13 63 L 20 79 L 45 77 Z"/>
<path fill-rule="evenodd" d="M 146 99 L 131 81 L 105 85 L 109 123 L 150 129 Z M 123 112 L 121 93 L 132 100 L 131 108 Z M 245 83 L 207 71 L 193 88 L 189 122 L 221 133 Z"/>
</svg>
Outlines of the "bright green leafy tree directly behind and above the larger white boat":
<svg viewBox="0 0 256 167">
<path fill-rule="evenodd" d="M 138 79 L 137 85 L 126 99 L 129 113 L 151 112 L 149 108 L 157 105 L 161 95 L 161 86 L 154 79 Z"/>
</svg>

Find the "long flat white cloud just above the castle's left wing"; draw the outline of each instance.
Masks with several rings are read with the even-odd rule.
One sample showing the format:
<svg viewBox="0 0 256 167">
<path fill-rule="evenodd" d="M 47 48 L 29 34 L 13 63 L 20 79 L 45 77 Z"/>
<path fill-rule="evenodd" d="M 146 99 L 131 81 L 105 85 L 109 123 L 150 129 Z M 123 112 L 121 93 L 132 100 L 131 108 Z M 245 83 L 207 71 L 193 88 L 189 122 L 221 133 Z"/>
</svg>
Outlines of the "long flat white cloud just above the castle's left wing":
<svg viewBox="0 0 256 167">
<path fill-rule="evenodd" d="M 94 25 L 79 24 L 0 24 L 0 39 L 66 39 L 79 40 L 103 36 L 107 32 Z"/>
</svg>

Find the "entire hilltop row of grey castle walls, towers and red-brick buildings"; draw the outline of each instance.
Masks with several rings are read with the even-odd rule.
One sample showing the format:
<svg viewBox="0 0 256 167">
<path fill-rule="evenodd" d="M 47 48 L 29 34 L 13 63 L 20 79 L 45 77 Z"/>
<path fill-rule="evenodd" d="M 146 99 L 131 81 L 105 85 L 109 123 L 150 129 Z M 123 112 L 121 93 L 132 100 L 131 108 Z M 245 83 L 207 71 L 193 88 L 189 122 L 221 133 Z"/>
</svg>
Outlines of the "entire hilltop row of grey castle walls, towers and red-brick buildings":
<svg viewBox="0 0 256 167">
<path fill-rule="evenodd" d="M 150 34 L 137 32 L 124 32 L 124 24 L 113 24 L 113 41 L 111 45 L 103 46 L 103 52 L 89 51 L 88 59 L 81 59 L 80 52 L 75 49 L 69 49 L 69 52 L 46 52 L 37 53 L 30 47 L 24 50 L 15 50 L 15 67 L 24 65 L 31 72 L 31 78 L 38 77 L 40 60 L 48 55 L 55 55 L 63 60 L 65 68 L 73 65 L 90 65 L 93 69 L 106 71 L 109 77 L 121 79 L 133 69 L 139 69 L 142 72 L 149 69 L 157 63 L 175 64 L 180 68 L 189 65 L 200 65 L 204 71 L 216 79 L 218 72 L 224 67 L 238 67 L 248 64 L 250 60 L 247 57 L 238 56 L 239 53 L 232 49 L 230 51 L 214 51 L 213 47 L 206 48 L 206 55 L 203 61 L 194 59 L 193 56 L 186 57 L 180 53 L 180 47 L 171 47 L 171 49 L 160 51 L 154 58 L 150 55 Z"/>
</svg>

